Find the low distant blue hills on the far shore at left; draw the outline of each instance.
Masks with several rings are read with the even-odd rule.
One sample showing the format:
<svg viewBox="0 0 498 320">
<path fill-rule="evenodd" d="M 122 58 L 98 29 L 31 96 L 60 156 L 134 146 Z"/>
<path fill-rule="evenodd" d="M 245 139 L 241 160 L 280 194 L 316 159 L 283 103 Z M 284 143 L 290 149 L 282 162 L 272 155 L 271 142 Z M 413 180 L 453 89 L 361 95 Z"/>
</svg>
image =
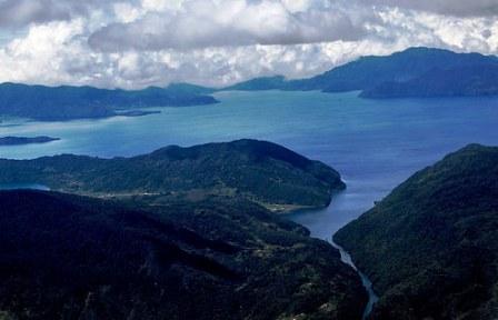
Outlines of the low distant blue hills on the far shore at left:
<svg viewBox="0 0 498 320">
<path fill-rule="evenodd" d="M 107 118 L 119 109 L 143 107 L 185 107 L 216 103 L 217 100 L 179 86 L 143 90 L 107 90 L 92 87 L 44 87 L 0 84 L 0 116 L 42 121 Z"/>
</svg>

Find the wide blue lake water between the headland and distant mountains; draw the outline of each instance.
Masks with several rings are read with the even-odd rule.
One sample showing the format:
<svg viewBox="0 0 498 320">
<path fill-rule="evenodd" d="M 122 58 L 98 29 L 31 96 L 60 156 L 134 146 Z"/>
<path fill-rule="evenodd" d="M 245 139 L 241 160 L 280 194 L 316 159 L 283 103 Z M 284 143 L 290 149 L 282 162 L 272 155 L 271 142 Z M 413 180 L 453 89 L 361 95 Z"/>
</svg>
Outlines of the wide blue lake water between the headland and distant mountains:
<svg viewBox="0 0 498 320">
<path fill-rule="evenodd" d="M 0 123 L 3 136 L 61 138 L 1 147 L 0 158 L 59 153 L 136 156 L 168 146 L 255 138 L 332 166 L 348 190 L 330 208 L 291 214 L 330 239 L 414 172 L 472 142 L 498 144 L 498 98 L 365 100 L 357 92 L 221 92 L 221 103 L 158 108 L 161 114 L 70 122 Z M 19 126 L 11 126 L 19 124 Z M 36 183 L 36 181 L 33 181 Z"/>
</svg>

